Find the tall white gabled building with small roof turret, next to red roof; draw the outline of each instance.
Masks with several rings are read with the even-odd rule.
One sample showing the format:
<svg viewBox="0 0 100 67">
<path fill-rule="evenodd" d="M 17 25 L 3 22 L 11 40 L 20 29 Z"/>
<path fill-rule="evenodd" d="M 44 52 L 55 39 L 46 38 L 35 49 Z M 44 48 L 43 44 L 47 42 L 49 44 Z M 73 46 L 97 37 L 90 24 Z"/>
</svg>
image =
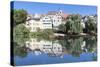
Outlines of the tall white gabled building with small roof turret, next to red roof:
<svg viewBox="0 0 100 67">
<path fill-rule="evenodd" d="M 56 11 L 48 12 L 47 16 L 51 18 L 53 28 L 55 29 L 57 29 L 60 24 L 64 24 L 65 23 L 64 19 L 68 17 L 68 15 L 64 14 L 62 10 L 58 12 Z"/>
</svg>

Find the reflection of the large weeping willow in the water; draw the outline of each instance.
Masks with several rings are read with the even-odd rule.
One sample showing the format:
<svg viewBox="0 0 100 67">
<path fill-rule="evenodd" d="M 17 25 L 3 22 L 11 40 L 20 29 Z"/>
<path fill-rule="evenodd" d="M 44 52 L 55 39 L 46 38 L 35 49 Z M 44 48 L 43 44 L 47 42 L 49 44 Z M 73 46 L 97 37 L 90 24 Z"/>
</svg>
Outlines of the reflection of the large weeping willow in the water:
<svg viewBox="0 0 100 67">
<path fill-rule="evenodd" d="M 66 48 L 68 54 L 79 56 L 82 53 L 83 38 L 66 38 L 60 43 Z"/>
</svg>

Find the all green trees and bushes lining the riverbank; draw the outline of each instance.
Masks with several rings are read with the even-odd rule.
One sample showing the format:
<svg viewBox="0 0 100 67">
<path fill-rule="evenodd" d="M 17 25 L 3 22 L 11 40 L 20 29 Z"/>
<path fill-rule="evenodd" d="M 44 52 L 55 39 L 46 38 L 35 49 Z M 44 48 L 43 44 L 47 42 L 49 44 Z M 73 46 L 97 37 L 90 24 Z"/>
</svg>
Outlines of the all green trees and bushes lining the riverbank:
<svg viewBox="0 0 100 67">
<path fill-rule="evenodd" d="M 65 38 L 65 37 L 83 37 L 83 36 L 97 36 L 97 21 L 91 17 L 87 17 L 85 21 L 85 27 L 82 26 L 82 16 L 79 14 L 71 14 L 66 18 L 66 23 L 58 26 L 58 30 L 55 29 L 39 29 L 37 32 L 30 32 L 25 27 L 27 18 L 27 11 L 23 9 L 12 10 L 11 16 L 13 20 L 13 42 L 22 44 L 30 37 L 39 39 L 52 39 L 52 38 Z M 55 36 L 58 33 L 58 36 Z M 62 35 L 59 35 L 62 34 Z"/>
</svg>

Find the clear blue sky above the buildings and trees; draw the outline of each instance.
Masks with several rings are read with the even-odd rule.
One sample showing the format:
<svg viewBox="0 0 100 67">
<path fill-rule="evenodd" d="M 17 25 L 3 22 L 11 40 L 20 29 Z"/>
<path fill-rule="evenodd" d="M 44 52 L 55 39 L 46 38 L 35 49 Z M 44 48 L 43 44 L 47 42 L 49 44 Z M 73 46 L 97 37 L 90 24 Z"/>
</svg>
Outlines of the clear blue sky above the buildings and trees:
<svg viewBox="0 0 100 67">
<path fill-rule="evenodd" d="M 52 4 L 39 2 L 14 1 L 14 9 L 25 9 L 29 14 L 45 14 L 48 11 L 62 10 L 67 14 L 91 15 L 97 13 L 96 6 Z"/>
</svg>

